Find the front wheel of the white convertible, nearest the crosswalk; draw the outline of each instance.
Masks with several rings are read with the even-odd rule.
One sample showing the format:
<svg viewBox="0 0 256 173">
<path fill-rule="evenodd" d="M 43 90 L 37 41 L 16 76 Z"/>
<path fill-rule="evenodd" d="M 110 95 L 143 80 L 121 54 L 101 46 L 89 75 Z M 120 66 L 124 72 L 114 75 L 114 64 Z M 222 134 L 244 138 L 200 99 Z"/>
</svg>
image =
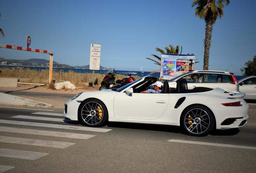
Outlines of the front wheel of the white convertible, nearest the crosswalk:
<svg viewBox="0 0 256 173">
<path fill-rule="evenodd" d="M 82 103 L 78 112 L 78 118 L 83 125 L 101 127 L 108 120 L 107 108 L 103 102 L 97 99 L 88 99 Z"/>
</svg>

